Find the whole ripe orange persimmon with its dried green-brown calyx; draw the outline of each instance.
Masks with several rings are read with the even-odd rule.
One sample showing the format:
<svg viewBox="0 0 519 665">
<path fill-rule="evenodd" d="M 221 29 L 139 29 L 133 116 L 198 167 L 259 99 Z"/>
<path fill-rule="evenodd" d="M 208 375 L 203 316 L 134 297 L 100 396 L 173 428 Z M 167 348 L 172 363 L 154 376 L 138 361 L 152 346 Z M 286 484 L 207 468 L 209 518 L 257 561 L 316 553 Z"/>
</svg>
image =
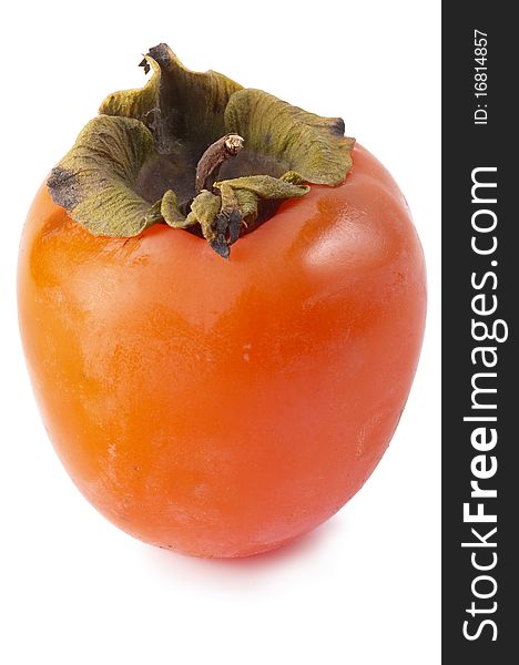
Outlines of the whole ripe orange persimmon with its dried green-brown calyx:
<svg viewBox="0 0 519 665">
<path fill-rule="evenodd" d="M 386 450 L 421 345 L 423 250 L 338 119 L 162 44 L 144 64 L 146 88 L 108 98 L 29 212 L 27 362 L 103 515 L 179 552 L 250 555 L 327 520 Z"/>
</svg>

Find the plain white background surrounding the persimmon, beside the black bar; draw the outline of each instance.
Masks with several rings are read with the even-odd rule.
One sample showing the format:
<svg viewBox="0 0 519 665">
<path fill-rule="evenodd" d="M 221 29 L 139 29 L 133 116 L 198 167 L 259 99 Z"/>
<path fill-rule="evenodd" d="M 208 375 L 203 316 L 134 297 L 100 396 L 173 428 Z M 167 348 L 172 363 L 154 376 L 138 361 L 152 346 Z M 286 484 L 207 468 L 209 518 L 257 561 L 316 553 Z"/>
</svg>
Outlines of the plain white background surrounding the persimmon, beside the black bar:
<svg viewBox="0 0 519 665">
<path fill-rule="evenodd" d="M 2 9 L 0 661 L 439 663 L 439 3 L 153 0 Z M 100 101 L 141 86 L 167 41 L 322 115 L 404 191 L 429 280 L 428 328 L 395 438 L 327 524 L 250 560 L 187 559 L 119 532 L 79 495 L 41 424 L 18 340 L 27 209 Z"/>
</svg>

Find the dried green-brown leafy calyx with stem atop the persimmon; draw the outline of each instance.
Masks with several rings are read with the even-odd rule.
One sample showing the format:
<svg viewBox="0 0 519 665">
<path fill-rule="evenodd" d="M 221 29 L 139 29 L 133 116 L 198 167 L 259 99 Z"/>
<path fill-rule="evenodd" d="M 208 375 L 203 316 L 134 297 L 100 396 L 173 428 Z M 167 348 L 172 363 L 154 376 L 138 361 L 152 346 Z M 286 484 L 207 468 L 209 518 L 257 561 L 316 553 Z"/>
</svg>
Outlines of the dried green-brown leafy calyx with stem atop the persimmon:
<svg viewBox="0 0 519 665">
<path fill-rule="evenodd" d="M 146 85 L 109 95 L 48 181 L 55 203 L 90 233 L 129 237 L 157 223 L 230 245 L 306 183 L 340 184 L 354 140 L 344 122 L 192 72 L 166 44 L 141 65 Z"/>
</svg>

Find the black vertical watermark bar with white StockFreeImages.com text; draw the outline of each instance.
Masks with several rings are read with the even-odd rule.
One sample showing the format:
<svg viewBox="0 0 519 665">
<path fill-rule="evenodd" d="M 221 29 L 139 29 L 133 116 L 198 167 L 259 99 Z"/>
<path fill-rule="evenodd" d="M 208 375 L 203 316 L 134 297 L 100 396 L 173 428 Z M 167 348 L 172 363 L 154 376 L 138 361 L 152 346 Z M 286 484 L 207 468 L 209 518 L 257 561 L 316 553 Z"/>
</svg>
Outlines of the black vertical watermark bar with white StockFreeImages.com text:
<svg viewBox="0 0 519 665">
<path fill-rule="evenodd" d="M 442 4 L 446 664 L 519 662 L 519 211 L 512 201 L 519 193 L 519 27 L 512 7 Z"/>
</svg>

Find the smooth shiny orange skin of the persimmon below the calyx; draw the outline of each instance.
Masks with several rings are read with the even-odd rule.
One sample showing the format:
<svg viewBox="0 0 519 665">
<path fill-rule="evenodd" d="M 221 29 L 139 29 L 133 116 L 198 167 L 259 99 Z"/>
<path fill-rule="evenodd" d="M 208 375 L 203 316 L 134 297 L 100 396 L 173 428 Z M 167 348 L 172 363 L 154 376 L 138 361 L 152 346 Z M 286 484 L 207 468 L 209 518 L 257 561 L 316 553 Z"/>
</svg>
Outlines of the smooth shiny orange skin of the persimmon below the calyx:
<svg viewBox="0 0 519 665">
<path fill-rule="evenodd" d="M 263 552 L 333 515 L 383 456 L 426 277 L 394 180 L 353 156 L 342 185 L 284 203 L 230 260 L 165 225 L 94 237 L 38 192 L 18 276 L 29 372 L 67 471 L 128 533 Z"/>
</svg>

